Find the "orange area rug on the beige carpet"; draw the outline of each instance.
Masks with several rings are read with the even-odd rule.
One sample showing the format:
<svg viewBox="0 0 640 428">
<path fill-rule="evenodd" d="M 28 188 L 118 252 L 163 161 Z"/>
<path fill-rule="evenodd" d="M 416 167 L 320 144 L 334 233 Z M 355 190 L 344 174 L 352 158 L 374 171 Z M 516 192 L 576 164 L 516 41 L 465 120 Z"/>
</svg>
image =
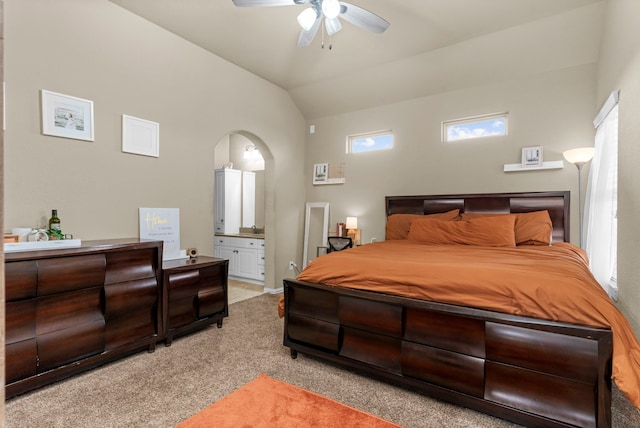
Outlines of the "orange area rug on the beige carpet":
<svg viewBox="0 0 640 428">
<path fill-rule="evenodd" d="M 376 416 L 261 374 L 177 428 L 398 428 Z"/>
</svg>

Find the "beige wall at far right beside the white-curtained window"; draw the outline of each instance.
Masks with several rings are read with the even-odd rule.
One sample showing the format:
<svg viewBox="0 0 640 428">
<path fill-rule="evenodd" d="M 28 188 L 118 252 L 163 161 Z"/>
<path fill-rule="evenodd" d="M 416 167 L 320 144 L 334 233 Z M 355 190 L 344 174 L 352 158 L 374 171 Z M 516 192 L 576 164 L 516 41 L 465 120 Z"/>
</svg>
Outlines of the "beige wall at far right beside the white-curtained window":
<svg viewBox="0 0 640 428">
<path fill-rule="evenodd" d="M 618 307 L 640 336 L 640 2 L 609 0 L 597 102 L 620 90 L 618 134 Z"/>
</svg>

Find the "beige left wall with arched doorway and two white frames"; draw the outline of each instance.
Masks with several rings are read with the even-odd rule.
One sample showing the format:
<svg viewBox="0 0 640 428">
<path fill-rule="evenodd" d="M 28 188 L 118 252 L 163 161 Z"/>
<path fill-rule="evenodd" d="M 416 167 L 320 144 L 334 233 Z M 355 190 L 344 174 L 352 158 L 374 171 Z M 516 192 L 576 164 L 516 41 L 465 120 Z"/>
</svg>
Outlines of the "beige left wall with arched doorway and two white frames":
<svg viewBox="0 0 640 428">
<path fill-rule="evenodd" d="M 304 221 L 304 121 L 286 92 L 106 0 L 5 13 L 5 230 L 56 208 L 77 238 L 138 236 L 139 207 L 180 208 L 182 248 L 212 254 L 215 146 L 243 133 L 266 159 L 266 285 L 281 286 Z M 41 89 L 92 100 L 95 141 L 42 135 Z M 121 152 L 122 114 L 160 124 L 159 158 Z"/>
</svg>

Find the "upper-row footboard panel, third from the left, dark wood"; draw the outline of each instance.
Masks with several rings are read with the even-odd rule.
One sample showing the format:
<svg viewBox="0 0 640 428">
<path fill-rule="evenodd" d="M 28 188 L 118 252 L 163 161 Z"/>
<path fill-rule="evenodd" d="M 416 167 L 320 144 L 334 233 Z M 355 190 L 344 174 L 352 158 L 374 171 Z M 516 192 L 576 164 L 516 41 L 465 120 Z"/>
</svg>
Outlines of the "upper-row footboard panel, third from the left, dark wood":
<svg viewBox="0 0 640 428">
<path fill-rule="evenodd" d="M 464 337 L 465 340 L 460 340 Z M 484 321 L 418 308 L 405 309 L 404 339 L 485 357 Z"/>
</svg>

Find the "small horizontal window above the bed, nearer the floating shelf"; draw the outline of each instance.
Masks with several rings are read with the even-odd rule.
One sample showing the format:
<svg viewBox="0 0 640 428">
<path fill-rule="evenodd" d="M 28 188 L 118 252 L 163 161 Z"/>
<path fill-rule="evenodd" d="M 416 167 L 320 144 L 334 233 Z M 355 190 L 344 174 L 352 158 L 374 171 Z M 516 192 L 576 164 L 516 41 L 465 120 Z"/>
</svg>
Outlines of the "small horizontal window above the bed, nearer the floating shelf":
<svg viewBox="0 0 640 428">
<path fill-rule="evenodd" d="M 508 116 L 508 113 L 498 113 L 442 122 L 442 141 L 507 135 Z"/>
</svg>

